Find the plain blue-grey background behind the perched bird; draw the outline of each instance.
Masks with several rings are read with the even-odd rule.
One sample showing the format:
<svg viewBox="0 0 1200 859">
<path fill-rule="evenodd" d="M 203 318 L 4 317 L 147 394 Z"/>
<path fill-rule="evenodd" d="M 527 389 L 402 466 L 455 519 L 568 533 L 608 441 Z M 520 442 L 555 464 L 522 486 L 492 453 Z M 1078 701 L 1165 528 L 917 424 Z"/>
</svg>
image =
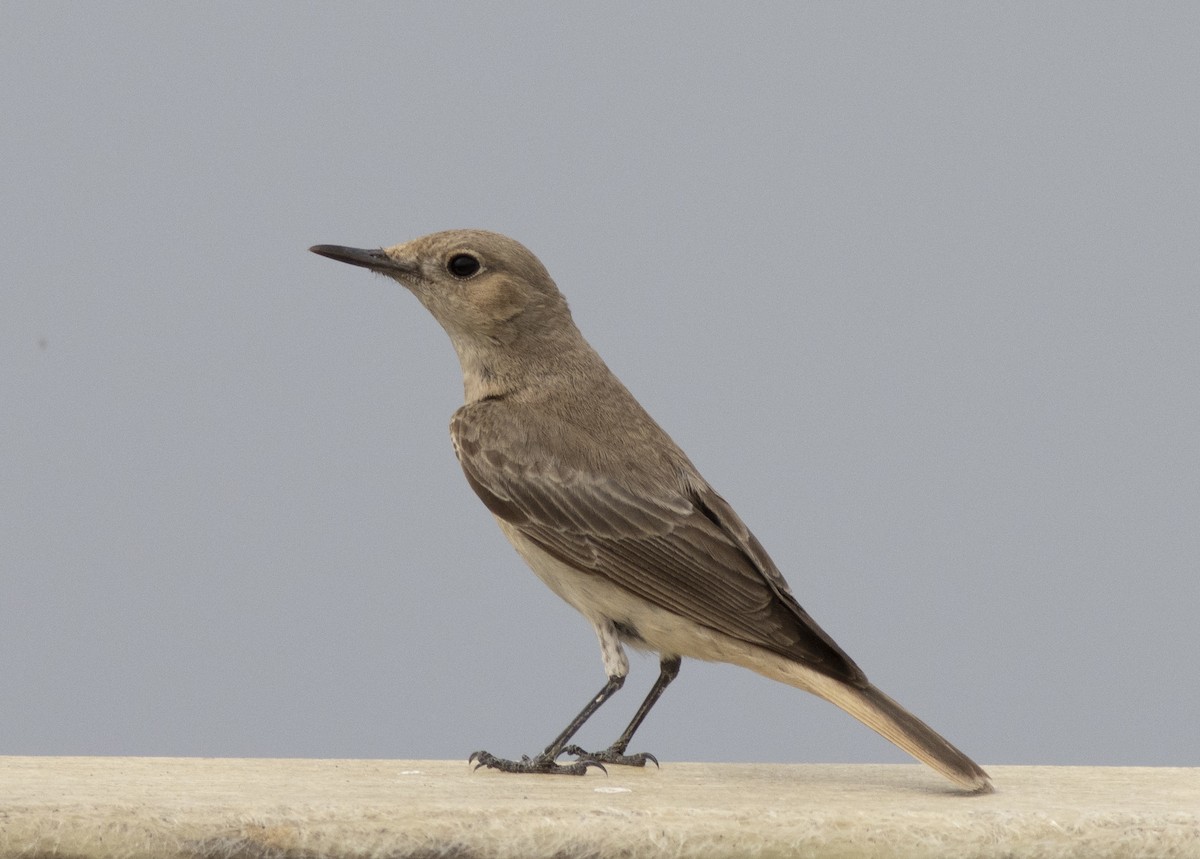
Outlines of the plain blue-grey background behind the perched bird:
<svg viewBox="0 0 1200 859">
<path fill-rule="evenodd" d="M 1198 40 L 1189 2 L 0 5 L 0 752 L 511 756 L 599 689 L 462 479 L 445 335 L 306 251 L 480 227 L 973 757 L 1200 764 Z M 635 746 L 907 759 L 697 662 Z"/>
</svg>

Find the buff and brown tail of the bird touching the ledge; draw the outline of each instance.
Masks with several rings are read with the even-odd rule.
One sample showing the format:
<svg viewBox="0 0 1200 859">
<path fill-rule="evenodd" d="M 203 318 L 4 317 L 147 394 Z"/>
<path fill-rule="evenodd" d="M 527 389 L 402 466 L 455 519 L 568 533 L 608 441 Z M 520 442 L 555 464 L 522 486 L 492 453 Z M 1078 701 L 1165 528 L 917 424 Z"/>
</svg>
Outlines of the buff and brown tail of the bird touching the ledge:
<svg viewBox="0 0 1200 859">
<path fill-rule="evenodd" d="M 992 792 L 991 777 L 979 764 L 875 686 L 866 684 L 859 687 L 842 683 L 821 685 L 821 689 L 812 691 L 918 761 L 928 763 L 955 785 L 972 793 Z"/>
</svg>

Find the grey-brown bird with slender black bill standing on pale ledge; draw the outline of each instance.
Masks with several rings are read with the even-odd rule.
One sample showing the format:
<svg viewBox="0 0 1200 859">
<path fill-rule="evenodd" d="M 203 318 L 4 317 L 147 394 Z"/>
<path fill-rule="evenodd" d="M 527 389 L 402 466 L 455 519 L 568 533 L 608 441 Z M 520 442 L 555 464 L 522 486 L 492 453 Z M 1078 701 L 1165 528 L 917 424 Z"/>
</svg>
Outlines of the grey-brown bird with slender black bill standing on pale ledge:
<svg viewBox="0 0 1200 859">
<path fill-rule="evenodd" d="M 606 681 L 562 733 L 520 759 L 476 751 L 476 769 L 658 765 L 629 745 L 686 657 L 811 692 L 962 791 L 992 791 L 988 773 L 874 686 L 800 606 L 733 507 L 583 338 L 528 248 L 458 229 L 391 247 L 310 250 L 397 281 L 449 335 L 464 395 L 450 437 L 467 482 L 600 643 Z M 658 678 L 617 740 L 588 752 L 571 740 L 624 684 L 626 647 L 658 654 Z"/>
</svg>

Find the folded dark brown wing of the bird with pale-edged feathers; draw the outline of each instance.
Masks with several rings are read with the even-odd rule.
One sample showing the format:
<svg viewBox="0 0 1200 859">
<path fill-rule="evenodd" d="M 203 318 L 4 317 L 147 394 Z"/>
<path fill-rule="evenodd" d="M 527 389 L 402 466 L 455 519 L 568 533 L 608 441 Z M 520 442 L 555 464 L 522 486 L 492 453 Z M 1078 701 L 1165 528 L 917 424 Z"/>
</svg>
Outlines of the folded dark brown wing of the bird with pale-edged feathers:
<svg viewBox="0 0 1200 859">
<path fill-rule="evenodd" d="M 492 513 L 544 551 L 708 629 L 865 683 L 698 475 L 678 488 L 629 486 L 496 444 L 491 428 L 470 409 L 455 415 L 451 435 L 467 481 Z"/>
</svg>

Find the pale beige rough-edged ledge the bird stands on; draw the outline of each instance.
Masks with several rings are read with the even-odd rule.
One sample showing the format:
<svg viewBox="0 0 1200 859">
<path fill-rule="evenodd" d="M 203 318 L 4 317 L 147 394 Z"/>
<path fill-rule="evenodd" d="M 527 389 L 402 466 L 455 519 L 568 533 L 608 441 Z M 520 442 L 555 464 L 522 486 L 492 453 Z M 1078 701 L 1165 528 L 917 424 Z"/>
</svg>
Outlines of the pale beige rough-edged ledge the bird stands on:
<svg viewBox="0 0 1200 859">
<path fill-rule="evenodd" d="M 0 857 L 1200 857 L 1200 769 L 0 758 Z"/>
</svg>

